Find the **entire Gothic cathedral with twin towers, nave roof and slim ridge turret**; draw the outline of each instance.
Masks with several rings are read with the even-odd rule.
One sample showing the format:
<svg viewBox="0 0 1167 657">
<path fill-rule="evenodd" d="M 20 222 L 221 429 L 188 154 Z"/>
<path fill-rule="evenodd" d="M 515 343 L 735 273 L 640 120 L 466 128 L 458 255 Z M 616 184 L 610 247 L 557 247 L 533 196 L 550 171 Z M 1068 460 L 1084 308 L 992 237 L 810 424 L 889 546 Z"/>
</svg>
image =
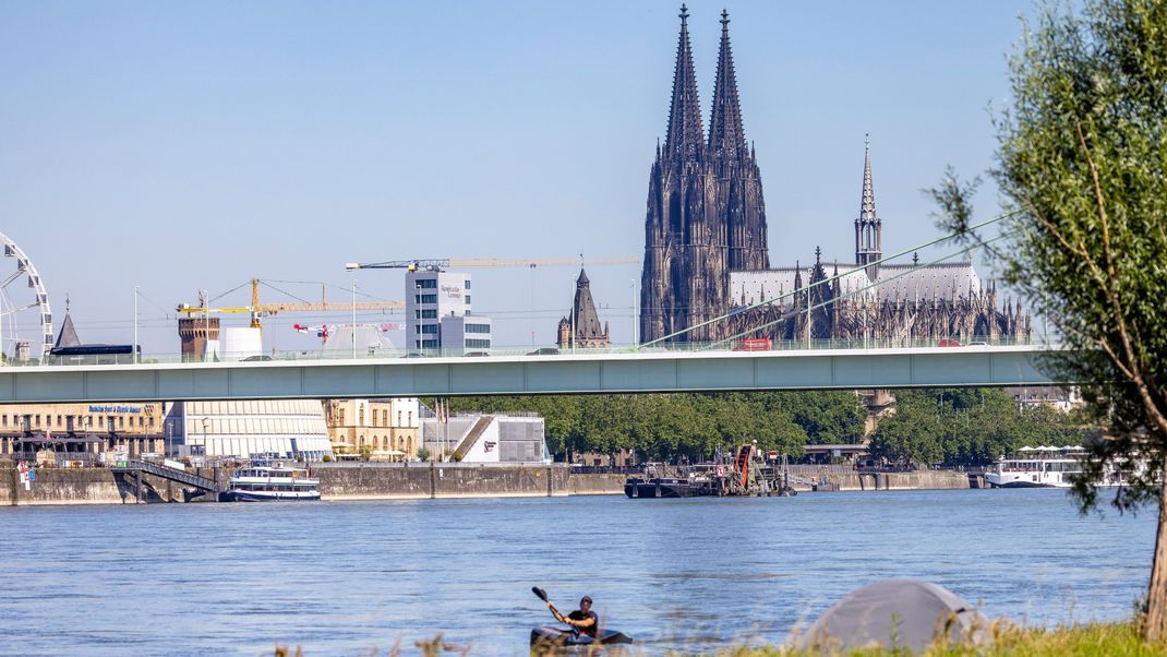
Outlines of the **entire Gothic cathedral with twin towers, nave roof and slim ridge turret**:
<svg viewBox="0 0 1167 657">
<path fill-rule="evenodd" d="M 706 139 L 683 5 L 668 132 L 649 174 L 641 340 L 1032 337 L 1020 302 L 999 306 L 995 285 L 984 284 L 971 260 L 879 264 L 882 222 L 875 211 L 869 145 L 854 232 L 853 261 L 825 261 L 816 249 L 809 266 L 770 268 L 762 180 L 742 124 L 729 16 L 721 13 Z M 685 333 L 673 336 L 679 331 Z"/>
</svg>

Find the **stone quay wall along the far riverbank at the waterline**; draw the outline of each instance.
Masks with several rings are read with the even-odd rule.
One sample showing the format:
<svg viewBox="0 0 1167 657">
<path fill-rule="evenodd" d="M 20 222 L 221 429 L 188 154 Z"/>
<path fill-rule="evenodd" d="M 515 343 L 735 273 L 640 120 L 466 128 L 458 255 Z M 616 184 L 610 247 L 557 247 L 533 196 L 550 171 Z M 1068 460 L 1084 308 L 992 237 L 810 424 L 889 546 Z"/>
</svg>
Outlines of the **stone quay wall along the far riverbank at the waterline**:
<svg viewBox="0 0 1167 657">
<path fill-rule="evenodd" d="M 198 474 L 221 482 L 229 476 L 224 469 L 204 469 Z M 321 498 L 326 501 L 623 495 L 626 478 L 619 474 L 576 474 L 562 463 L 316 463 L 312 474 L 320 480 Z M 969 488 L 964 473 L 950 470 L 857 473 L 839 467 L 798 466 L 791 468 L 791 476 L 794 488 L 801 492 L 812 490 L 810 482 L 824 481 L 830 485 L 820 488 L 841 491 Z M 198 499 L 197 492 L 184 490 L 176 482 L 144 475 L 140 499 L 186 502 Z M 15 469 L 0 468 L 0 506 L 138 501 L 137 482 L 105 468 L 40 468 L 28 489 Z"/>
</svg>

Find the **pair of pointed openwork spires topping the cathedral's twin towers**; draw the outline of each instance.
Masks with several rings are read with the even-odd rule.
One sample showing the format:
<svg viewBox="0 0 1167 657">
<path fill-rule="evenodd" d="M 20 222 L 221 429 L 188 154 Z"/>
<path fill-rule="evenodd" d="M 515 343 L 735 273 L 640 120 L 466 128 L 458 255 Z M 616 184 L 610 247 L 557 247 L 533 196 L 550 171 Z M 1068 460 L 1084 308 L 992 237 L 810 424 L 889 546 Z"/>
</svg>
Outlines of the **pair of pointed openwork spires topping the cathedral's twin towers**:
<svg viewBox="0 0 1167 657">
<path fill-rule="evenodd" d="M 682 161 L 704 160 L 706 153 L 714 158 L 740 161 L 748 152 L 738 100 L 733 51 L 729 48 L 729 13 L 721 12 L 721 47 L 714 78 L 708 144 L 705 142 L 693 49 L 689 40 L 689 8 L 685 5 L 680 6 L 679 16 L 680 36 L 677 41 L 677 64 L 672 76 L 672 103 L 669 107 L 664 154 Z"/>
</svg>

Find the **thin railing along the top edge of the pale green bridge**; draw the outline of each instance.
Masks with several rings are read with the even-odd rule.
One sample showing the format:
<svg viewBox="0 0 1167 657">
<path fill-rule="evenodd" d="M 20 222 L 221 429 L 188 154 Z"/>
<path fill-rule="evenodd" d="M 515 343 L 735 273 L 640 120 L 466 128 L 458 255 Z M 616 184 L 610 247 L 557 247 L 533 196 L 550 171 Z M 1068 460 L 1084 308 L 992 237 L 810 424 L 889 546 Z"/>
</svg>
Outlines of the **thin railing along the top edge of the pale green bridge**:
<svg viewBox="0 0 1167 657">
<path fill-rule="evenodd" d="M 181 354 L 145 354 L 139 355 L 137 364 L 159 363 L 243 363 L 261 364 L 268 362 L 320 362 L 320 361 L 368 361 L 385 358 L 477 358 L 496 356 L 524 356 L 533 358 L 555 358 L 580 355 L 596 354 L 671 354 L 671 352 L 700 352 L 700 351 L 805 351 L 805 350 L 843 350 L 843 349 L 918 349 L 918 348 L 951 348 L 974 350 L 987 347 L 1029 347 L 1035 344 L 1032 340 L 1018 340 L 1014 337 L 995 336 L 972 336 L 965 340 L 950 337 L 881 337 L 881 338 L 854 338 L 854 340 L 734 340 L 720 342 L 666 342 L 656 343 L 650 347 L 638 344 L 613 344 L 609 347 L 533 347 L 533 345 L 503 345 L 491 349 L 377 349 L 357 350 L 355 354 L 347 349 L 315 349 L 315 350 L 286 350 L 267 351 L 256 354 L 214 354 L 209 359 L 191 359 Z M 132 354 L 105 354 L 97 356 L 48 356 L 43 362 L 27 361 L 4 363 L 9 366 L 30 365 L 132 365 L 135 363 Z"/>
</svg>

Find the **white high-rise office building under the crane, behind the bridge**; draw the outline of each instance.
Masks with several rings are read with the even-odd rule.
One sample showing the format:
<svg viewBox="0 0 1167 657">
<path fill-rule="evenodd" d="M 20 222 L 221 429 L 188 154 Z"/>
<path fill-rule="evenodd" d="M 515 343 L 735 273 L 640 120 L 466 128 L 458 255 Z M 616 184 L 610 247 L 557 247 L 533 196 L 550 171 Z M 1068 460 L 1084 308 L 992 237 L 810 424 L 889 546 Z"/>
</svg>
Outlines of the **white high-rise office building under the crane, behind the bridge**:
<svg viewBox="0 0 1167 657">
<path fill-rule="evenodd" d="M 471 310 L 470 274 L 439 270 L 405 274 L 405 347 L 454 355 L 490 348 L 490 320 Z"/>
</svg>

